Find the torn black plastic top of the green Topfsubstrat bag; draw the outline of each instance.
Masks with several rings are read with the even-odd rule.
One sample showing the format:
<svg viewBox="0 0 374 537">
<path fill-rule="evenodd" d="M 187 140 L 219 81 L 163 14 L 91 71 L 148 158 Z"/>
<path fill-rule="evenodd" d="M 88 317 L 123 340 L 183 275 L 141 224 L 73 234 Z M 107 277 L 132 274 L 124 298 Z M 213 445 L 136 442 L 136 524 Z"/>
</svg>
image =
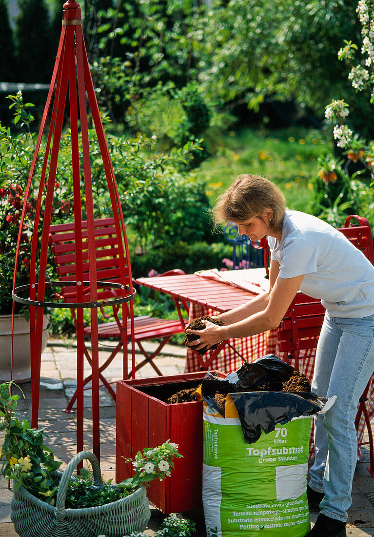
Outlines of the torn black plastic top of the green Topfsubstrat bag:
<svg viewBox="0 0 374 537">
<path fill-rule="evenodd" d="M 224 416 L 224 408 L 219 407 L 213 397 L 216 393 L 229 393 L 238 411 L 244 439 L 247 444 L 253 444 L 260 438 L 261 429 L 269 433 L 278 423 L 312 416 L 324 408 L 326 400 L 311 392 L 296 394 L 281 391 L 282 382 L 294 371 L 294 367 L 269 354 L 252 364 L 243 364 L 224 380 L 207 373 L 201 384 L 201 395 L 210 408 Z M 270 382 L 278 384 L 279 390 L 256 391 L 259 386 Z"/>
</svg>

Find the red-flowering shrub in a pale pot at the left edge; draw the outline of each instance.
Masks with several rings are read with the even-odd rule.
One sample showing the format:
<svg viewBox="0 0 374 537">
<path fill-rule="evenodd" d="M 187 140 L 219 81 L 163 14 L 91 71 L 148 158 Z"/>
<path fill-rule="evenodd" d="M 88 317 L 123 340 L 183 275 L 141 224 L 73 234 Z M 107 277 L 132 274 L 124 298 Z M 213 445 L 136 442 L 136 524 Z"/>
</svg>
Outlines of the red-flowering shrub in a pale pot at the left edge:
<svg viewBox="0 0 374 537">
<path fill-rule="evenodd" d="M 12 333 L 12 290 L 14 260 L 19 232 L 20 216 L 24 205 L 28 173 L 35 150 L 34 134 L 30 124 L 33 117 L 30 103 L 23 103 L 20 92 L 9 96 L 14 112 L 14 124 L 26 129 L 19 135 L 11 135 L 10 129 L 0 124 L 0 380 L 10 380 L 11 333 Z M 38 164 L 37 164 L 38 166 Z M 32 188 L 25 207 L 25 220 L 21 235 L 17 285 L 30 282 L 31 237 L 33 234 L 36 200 L 38 192 Z M 54 217 L 64 219 L 71 211 L 70 202 L 63 201 L 61 188 L 57 188 L 53 202 Z M 41 218 L 43 212 L 41 212 Z M 52 266 L 49 267 L 52 271 Z M 17 382 L 30 379 L 30 328 L 28 308 L 15 304 L 13 380 Z M 48 320 L 43 322 L 43 346 L 48 340 Z"/>
</svg>

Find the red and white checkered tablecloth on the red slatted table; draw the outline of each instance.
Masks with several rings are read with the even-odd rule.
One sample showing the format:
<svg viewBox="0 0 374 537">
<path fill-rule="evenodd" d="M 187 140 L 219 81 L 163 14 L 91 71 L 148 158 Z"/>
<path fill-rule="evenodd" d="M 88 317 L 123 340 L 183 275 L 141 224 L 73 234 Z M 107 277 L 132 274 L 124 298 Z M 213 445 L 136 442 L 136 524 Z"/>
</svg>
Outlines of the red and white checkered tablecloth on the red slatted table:
<svg viewBox="0 0 374 537">
<path fill-rule="evenodd" d="M 220 279 L 220 275 L 217 271 L 211 271 L 211 276 L 209 275 L 210 271 L 204 271 L 203 277 L 211 277 L 212 279 Z M 246 273 L 247 271 L 230 271 L 234 274 L 234 281 L 232 285 L 240 286 L 244 289 L 249 289 L 253 292 L 253 285 L 247 286 L 244 283 L 243 285 L 238 284 L 238 273 Z M 225 272 L 225 282 L 230 284 L 230 274 Z M 256 282 L 255 285 L 258 285 Z M 259 292 L 261 288 L 259 287 Z M 216 315 L 217 312 L 206 307 L 200 306 L 198 304 L 190 304 L 189 310 L 189 321 L 203 315 Z M 247 362 L 254 362 L 258 358 L 263 357 L 266 354 L 275 354 L 277 357 L 285 360 L 287 358 L 287 353 L 280 352 L 277 348 L 276 341 L 276 330 L 268 330 L 267 332 L 260 333 L 256 336 L 250 336 L 246 338 L 236 338 L 230 339 L 229 343 L 235 347 L 235 349 L 240 353 L 243 360 Z M 299 371 L 303 373 L 309 381 L 312 381 L 313 371 L 314 371 L 314 357 L 316 354 L 315 349 L 306 349 L 302 350 L 299 353 Z M 218 371 L 223 371 L 225 373 L 231 373 L 237 371 L 243 360 L 234 352 L 230 347 L 225 346 L 224 349 L 217 355 L 217 357 L 211 362 L 209 368 L 211 370 L 217 369 Z M 292 360 L 290 361 L 292 364 Z M 187 347 L 187 357 L 186 357 L 186 366 L 185 372 L 190 373 L 194 371 L 199 371 L 200 361 L 199 355 L 193 350 Z M 368 409 L 369 416 L 374 416 L 374 375 L 371 378 L 368 399 L 366 401 L 366 408 Z M 358 442 L 360 443 L 364 436 L 365 422 L 364 417 L 361 417 L 360 424 L 358 427 Z M 360 453 L 358 454 L 360 456 Z M 312 420 L 311 427 L 311 437 L 310 437 L 310 451 L 309 458 L 310 460 L 314 457 L 314 423 Z"/>
</svg>

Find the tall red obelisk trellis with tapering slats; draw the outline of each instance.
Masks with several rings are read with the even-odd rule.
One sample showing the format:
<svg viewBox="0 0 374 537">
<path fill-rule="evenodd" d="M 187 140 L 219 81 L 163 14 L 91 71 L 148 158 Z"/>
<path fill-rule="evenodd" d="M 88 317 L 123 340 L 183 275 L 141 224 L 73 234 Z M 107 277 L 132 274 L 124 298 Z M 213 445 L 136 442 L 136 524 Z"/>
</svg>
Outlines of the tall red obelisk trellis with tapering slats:
<svg viewBox="0 0 374 537">
<path fill-rule="evenodd" d="M 64 285 L 74 286 L 76 302 L 72 304 L 46 302 L 45 291 L 58 282 L 47 282 L 48 237 L 53 215 L 53 194 L 55 188 L 56 170 L 58 166 L 58 153 L 62 135 L 65 106 L 69 97 L 70 107 L 70 137 L 71 137 L 71 166 L 74 199 L 74 228 L 77 243 L 75 263 L 76 281 L 64 282 Z M 25 202 L 20 218 L 20 231 L 18 236 L 16 264 L 14 269 L 13 298 L 30 306 L 30 343 L 31 343 L 31 396 L 32 396 L 32 426 L 38 426 L 39 395 L 40 395 L 40 366 L 41 345 L 43 329 L 43 311 L 46 306 L 74 308 L 76 310 L 77 327 L 77 451 L 83 449 L 83 419 L 84 419 L 84 342 L 83 342 L 83 309 L 91 310 L 91 367 L 92 367 L 92 436 L 93 451 L 100 456 L 100 429 L 99 429 L 99 342 L 98 342 L 98 308 L 102 305 L 98 301 L 98 282 L 96 270 L 96 252 L 94 237 L 94 200 L 92 193 L 92 177 L 90 164 L 90 141 L 87 121 L 87 101 L 97 133 L 101 158 L 104 164 L 111 198 L 116 234 L 119 238 L 119 265 L 121 273 L 120 284 L 109 284 L 115 287 L 119 296 L 116 303 L 122 303 L 122 343 L 123 343 L 123 376 L 128 378 L 127 371 L 127 320 L 129 302 L 129 317 L 131 334 L 134 332 L 133 285 L 129 266 L 129 253 L 126 230 L 121 211 L 118 188 L 115 182 L 113 166 L 105 139 L 104 129 L 100 118 L 99 108 L 93 88 L 89 62 L 85 49 L 82 31 L 80 6 L 75 0 L 68 0 L 64 4 L 62 32 L 58 45 L 52 82 L 43 112 L 40 131 L 36 142 L 25 192 Z M 53 104 L 52 104 L 53 103 Z M 52 113 L 50 109 L 52 107 Z M 46 149 L 43 155 L 43 164 L 40 177 L 38 203 L 34 220 L 32 237 L 32 252 L 30 263 L 30 286 L 17 287 L 18 252 L 21 244 L 21 231 L 26 212 L 26 204 L 32 187 L 35 166 L 39 158 L 42 136 L 45 134 L 47 119 L 50 115 L 49 130 L 47 134 Z M 79 154 L 79 143 L 82 145 L 82 158 Z M 82 234 L 82 193 L 84 193 L 86 206 L 84 214 L 87 221 L 87 238 Z M 42 224 L 39 223 L 43 211 Z M 41 228 L 40 228 L 41 227 Z M 40 228 L 40 229 L 39 229 Z M 39 239 L 38 239 L 39 237 Z M 39 242 L 38 242 L 39 241 Z M 38 246 L 39 244 L 39 246 Z M 83 248 L 84 245 L 84 248 Z M 88 251 L 84 259 L 83 250 Z M 83 280 L 84 263 L 89 265 L 89 281 Z M 127 276 L 126 276 L 126 265 Z M 36 275 L 38 274 L 38 281 Z M 100 287 L 103 287 L 102 282 Z M 105 286 L 104 286 L 105 287 Z M 84 301 L 87 288 L 89 288 L 89 301 Z M 20 295 L 28 291 L 27 299 Z M 132 337 L 132 336 L 131 336 Z M 131 353 L 134 365 L 134 344 L 131 342 Z M 12 367 L 12 366 L 11 366 Z"/>
</svg>

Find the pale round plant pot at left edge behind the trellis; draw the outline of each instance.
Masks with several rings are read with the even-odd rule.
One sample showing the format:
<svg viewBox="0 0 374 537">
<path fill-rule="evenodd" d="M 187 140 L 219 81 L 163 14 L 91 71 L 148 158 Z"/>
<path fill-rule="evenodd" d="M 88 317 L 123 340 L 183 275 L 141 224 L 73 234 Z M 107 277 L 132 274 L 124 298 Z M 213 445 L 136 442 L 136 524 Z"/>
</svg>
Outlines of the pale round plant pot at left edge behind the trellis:
<svg viewBox="0 0 374 537">
<path fill-rule="evenodd" d="M 48 343 L 48 318 L 43 320 L 42 351 Z M 0 315 L 0 381 L 10 380 L 12 316 Z M 30 372 L 30 324 L 23 315 L 14 316 L 13 380 L 27 382 Z"/>
</svg>

